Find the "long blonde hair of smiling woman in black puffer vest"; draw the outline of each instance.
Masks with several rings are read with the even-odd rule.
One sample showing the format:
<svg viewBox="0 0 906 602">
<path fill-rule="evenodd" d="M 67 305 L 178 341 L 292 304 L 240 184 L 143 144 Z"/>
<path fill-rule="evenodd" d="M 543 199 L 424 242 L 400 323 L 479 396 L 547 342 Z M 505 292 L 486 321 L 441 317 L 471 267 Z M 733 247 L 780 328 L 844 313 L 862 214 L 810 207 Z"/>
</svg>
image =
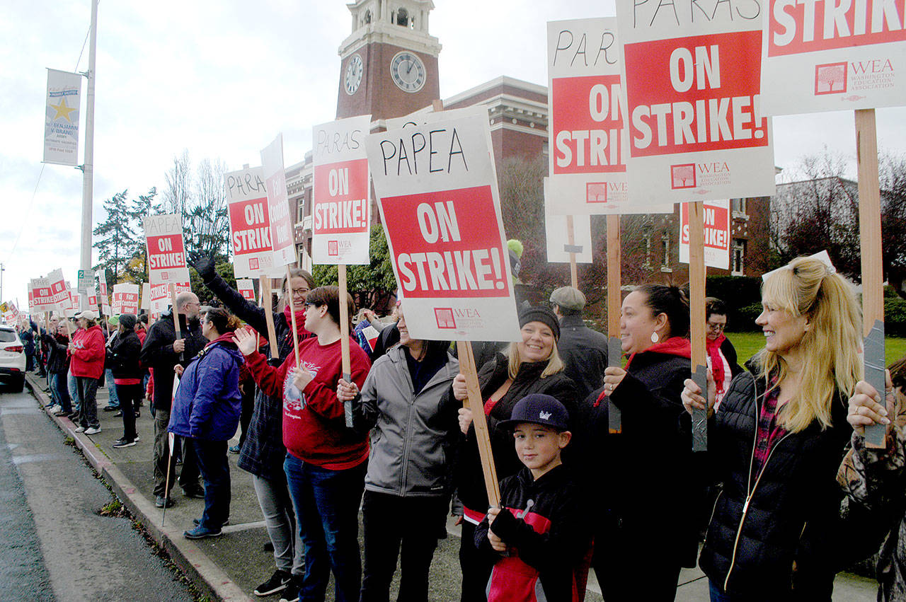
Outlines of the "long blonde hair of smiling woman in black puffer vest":
<svg viewBox="0 0 906 602">
<path fill-rule="evenodd" d="M 849 397 L 863 377 L 862 312 L 843 278 L 817 259 L 800 257 L 778 270 L 762 285 L 762 302 L 794 317 L 805 316 L 811 328 L 799 341 L 803 358 L 799 389 L 780 408 L 778 419 L 798 433 L 817 420 L 831 425 L 831 404 L 839 390 Z M 786 360 L 762 349 L 755 357 L 757 377 L 788 376 Z"/>
</svg>

